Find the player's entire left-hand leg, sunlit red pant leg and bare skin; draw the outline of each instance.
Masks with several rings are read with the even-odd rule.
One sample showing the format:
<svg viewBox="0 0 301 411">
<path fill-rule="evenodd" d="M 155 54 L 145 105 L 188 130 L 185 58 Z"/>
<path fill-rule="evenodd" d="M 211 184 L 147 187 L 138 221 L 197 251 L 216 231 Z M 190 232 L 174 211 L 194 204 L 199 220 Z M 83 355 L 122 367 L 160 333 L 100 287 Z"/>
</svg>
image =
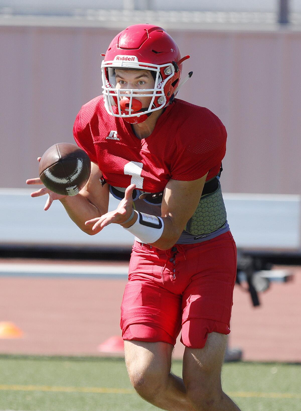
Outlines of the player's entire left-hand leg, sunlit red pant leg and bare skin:
<svg viewBox="0 0 301 411">
<path fill-rule="evenodd" d="M 170 256 L 135 243 L 121 307 L 126 366 L 138 394 L 165 410 L 195 411 L 183 381 L 170 373 L 173 346 L 181 326 L 182 296 L 166 287 Z M 165 281 L 163 271 L 168 271 Z M 173 287 L 177 287 L 174 282 Z"/>
</svg>

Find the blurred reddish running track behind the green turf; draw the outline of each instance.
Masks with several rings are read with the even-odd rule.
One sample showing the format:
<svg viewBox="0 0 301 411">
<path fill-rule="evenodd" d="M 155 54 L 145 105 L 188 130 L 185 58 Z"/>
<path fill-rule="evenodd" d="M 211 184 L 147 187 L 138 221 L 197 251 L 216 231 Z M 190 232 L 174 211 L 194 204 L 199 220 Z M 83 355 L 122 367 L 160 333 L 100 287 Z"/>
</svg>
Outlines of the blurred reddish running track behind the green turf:
<svg viewBox="0 0 301 411">
<path fill-rule="evenodd" d="M 301 268 L 288 270 L 293 281 L 273 283 L 260 294 L 260 307 L 253 308 L 248 293 L 235 286 L 229 342 L 243 350 L 245 360 L 301 362 Z M 0 284 L 0 321 L 23 331 L 22 338 L 0 338 L 0 353 L 97 356 L 103 355 L 99 344 L 120 335 L 126 279 L 2 276 Z M 175 357 L 183 350 L 178 341 Z"/>
</svg>

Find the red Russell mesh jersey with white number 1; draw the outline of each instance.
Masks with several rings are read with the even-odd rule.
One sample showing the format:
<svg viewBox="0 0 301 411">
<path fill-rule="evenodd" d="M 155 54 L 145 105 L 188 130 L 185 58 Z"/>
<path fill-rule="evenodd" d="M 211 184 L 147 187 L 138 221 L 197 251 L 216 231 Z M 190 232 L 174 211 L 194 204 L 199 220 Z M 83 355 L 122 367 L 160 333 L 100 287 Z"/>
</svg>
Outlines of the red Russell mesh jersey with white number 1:
<svg viewBox="0 0 301 411">
<path fill-rule="evenodd" d="M 99 96 L 85 104 L 74 123 L 74 139 L 108 184 L 136 184 L 145 192 L 161 192 L 170 178 L 191 181 L 208 172 L 218 174 L 225 155 L 227 133 L 209 109 L 175 99 L 146 139 L 131 125 L 109 115 Z"/>
</svg>

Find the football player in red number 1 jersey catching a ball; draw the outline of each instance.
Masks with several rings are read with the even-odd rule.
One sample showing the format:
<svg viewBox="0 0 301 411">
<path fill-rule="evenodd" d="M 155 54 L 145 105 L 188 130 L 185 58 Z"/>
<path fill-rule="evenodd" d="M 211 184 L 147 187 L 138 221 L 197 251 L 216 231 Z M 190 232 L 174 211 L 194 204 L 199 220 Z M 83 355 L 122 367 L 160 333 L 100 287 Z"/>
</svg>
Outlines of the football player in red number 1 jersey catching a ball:
<svg viewBox="0 0 301 411">
<path fill-rule="evenodd" d="M 49 194 L 45 209 L 59 199 L 88 234 L 115 223 L 135 236 L 120 326 L 138 394 L 165 410 L 239 410 L 221 388 L 236 275 L 219 182 L 225 127 L 176 98 L 189 56 L 163 28 L 130 26 L 103 56 L 103 95 L 74 123 L 92 162 L 87 185 L 72 197 L 32 195 Z M 109 193 L 120 200 L 111 212 Z M 179 332 L 182 379 L 170 372 Z"/>
</svg>

